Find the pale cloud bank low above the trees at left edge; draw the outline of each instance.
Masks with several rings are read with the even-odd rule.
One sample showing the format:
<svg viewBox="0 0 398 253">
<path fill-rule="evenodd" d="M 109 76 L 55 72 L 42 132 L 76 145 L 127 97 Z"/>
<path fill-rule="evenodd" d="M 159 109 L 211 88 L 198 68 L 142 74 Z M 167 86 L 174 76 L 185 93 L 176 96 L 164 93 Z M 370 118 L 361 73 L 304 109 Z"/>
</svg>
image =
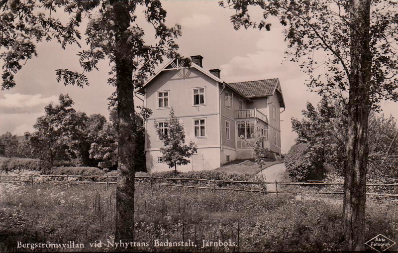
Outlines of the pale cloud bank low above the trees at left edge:
<svg viewBox="0 0 398 253">
<path fill-rule="evenodd" d="M 0 113 L 20 114 L 42 112 L 46 105 L 57 100 L 56 96 L 43 98 L 41 94 L 4 94 L 4 98 L 0 99 Z"/>
</svg>

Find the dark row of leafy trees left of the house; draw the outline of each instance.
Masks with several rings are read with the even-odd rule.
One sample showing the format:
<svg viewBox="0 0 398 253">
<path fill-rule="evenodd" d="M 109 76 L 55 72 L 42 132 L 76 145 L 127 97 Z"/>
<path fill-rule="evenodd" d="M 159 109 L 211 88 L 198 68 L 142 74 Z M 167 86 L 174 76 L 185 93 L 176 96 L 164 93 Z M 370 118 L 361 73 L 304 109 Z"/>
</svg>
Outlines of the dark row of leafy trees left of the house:
<svg viewBox="0 0 398 253">
<path fill-rule="evenodd" d="M 47 105 L 37 118 L 34 132 L 24 136 L 10 132 L 0 135 L 0 156 L 36 158 L 42 166 L 91 166 L 104 170 L 117 168 L 117 111 L 110 110 L 109 122 L 100 114 L 87 116 L 76 111 L 68 95 L 60 94 L 59 104 Z M 151 113 L 149 110 L 143 110 Z M 149 112 L 148 112 L 149 111 Z M 137 147 L 142 153 L 136 162 L 145 170 L 143 118 L 137 115 Z"/>
</svg>

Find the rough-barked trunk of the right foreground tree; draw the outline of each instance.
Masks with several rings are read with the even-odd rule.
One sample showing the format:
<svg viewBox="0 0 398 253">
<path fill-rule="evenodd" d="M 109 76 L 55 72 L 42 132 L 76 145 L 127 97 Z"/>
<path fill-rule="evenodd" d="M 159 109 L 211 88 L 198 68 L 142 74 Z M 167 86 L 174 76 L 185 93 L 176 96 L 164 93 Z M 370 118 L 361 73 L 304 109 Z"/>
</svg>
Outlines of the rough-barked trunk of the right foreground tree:
<svg viewBox="0 0 398 253">
<path fill-rule="evenodd" d="M 347 251 L 365 247 L 366 169 L 368 164 L 370 0 L 351 1 L 351 72 L 344 182 L 344 235 Z"/>
</svg>

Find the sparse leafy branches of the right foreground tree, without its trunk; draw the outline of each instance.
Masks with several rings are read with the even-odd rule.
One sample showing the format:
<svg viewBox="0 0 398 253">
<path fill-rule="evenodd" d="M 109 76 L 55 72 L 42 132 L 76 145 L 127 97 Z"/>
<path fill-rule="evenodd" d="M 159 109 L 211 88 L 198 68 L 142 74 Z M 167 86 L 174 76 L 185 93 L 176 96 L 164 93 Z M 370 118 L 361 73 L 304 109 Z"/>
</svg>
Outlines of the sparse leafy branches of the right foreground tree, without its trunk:
<svg viewBox="0 0 398 253">
<path fill-rule="evenodd" d="M 285 27 L 287 50 L 291 61 L 300 62 L 300 68 L 309 78 L 307 86 L 322 96 L 347 98 L 350 85 L 350 36 L 357 29 L 351 19 L 352 2 L 347 0 L 224 0 L 224 7 L 234 8 L 231 16 L 235 29 L 272 29 L 269 19 L 279 18 Z M 373 0 L 371 3 L 370 50 L 372 80 L 370 104 L 379 109 L 381 100 L 397 101 L 398 69 L 398 3 Z M 252 20 L 249 6 L 263 10 L 262 20 Z M 318 69 L 324 71 L 317 71 Z"/>
</svg>

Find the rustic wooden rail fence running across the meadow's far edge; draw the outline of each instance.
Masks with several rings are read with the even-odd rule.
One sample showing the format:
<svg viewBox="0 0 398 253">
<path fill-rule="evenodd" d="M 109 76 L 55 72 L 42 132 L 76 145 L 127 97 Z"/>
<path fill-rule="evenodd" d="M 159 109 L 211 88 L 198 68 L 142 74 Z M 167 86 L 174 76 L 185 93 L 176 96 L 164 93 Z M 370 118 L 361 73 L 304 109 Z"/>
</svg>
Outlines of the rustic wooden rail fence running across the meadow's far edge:
<svg viewBox="0 0 398 253">
<path fill-rule="evenodd" d="M 27 177 L 28 180 L 6 180 L 2 181 L 3 178 L 21 178 Z M 35 177 L 50 177 L 50 178 L 64 178 L 62 181 L 54 181 L 54 180 L 39 180 L 35 181 Z M 99 178 L 104 179 L 104 182 L 99 181 L 71 181 L 71 178 Z M 61 183 L 65 182 L 65 187 L 68 189 L 70 184 L 105 184 L 105 189 L 108 190 L 108 186 L 110 184 L 116 184 L 116 182 L 112 182 L 109 179 L 117 178 L 117 176 L 80 176 L 80 175 L 7 175 L 0 176 L 0 183 L 29 183 L 31 186 L 36 183 Z M 297 193 L 308 193 L 305 191 L 283 191 L 278 190 L 278 185 L 297 185 L 297 186 L 321 186 L 321 185 L 344 185 L 343 182 L 330 182 L 330 181 L 308 181 L 308 182 L 262 182 L 262 181 L 233 181 L 233 180 L 211 180 L 211 179 L 201 179 L 201 178 L 167 178 L 167 177 L 153 177 L 153 176 L 136 176 L 136 179 L 148 179 L 148 182 L 135 182 L 137 185 L 150 185 L 151 193 L 153 192 L 153 186 L 171 186 L 171 187 L 183 187 L 183 188 L 196 188 L 196 189 L 205 189 L 210 190 L 214 194 L 215 191 L 240 191 L 240 192 L 258 192 L 258 193 L 274 193 L 278 196 L 278 194 L 297 194 Z M 171 184 L 171 183 L 161 183 L 154 182 L 154 180 L 172 180 L 172 181 L 200 181 L 206 182 L 211 187 L 207 186 L 193 186 L 193 185 L 183 185 L 183 184 Z M 234 188 L 224 188 L 224 187 L 216 187 L 217 183 L 227 183 L 227 184 L 253 184 L 253 185 L 275 185 L 275 191 L 263 191 L 263 190 L 253 190 L 253 189 L 234 189 Z M 397 186 L 398 184 L 385 184 L 385 183 L 374 183 L 367 184 L 367 186 Z M 311 192 L 314 194 L 344 194 L 343 192 Z M 398 197 L 398 194 L 387 194 L 387 193 L 367 193 L 367 195 L 378 195 L 385 197 Z"/>
</svg>

